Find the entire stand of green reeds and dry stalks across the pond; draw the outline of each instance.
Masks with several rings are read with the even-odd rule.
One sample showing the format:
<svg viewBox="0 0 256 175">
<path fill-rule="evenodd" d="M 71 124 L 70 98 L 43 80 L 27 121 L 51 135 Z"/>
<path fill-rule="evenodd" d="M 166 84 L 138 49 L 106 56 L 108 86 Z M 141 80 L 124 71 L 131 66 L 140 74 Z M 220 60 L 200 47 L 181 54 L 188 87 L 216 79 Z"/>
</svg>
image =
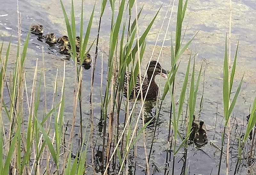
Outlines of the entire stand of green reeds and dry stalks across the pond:
<svg viewBox="0 0 256 175">
<path fill-rule="evenodd" d="M 68 15 L 66 13 L 66 10 L 64 8 L 64 5 L 62 1 L 60 1 L 61 7 L 63 10 L 63 15 L 68 31 L 68 37 L 70 38 L 70 44 L 71 44 L 71 50 L 76 50 L 75 45 L 75 38 L 76 38 L 76 23 L 75 23 L 75 9 L 73 1 L 71 2 L 71 17 L 68 19 Z M 145 131 L 145 128 L 148 126 L 148 124 L 154 119 L 152 118 L 150 121 L 148 121 L 145 125 L 143 124 L 140 129 L 138 129 L 138 122 L 140 119 L 140 114 L 143 111 L 143 103 L 145 100 L 142 99 L 142 109 L 140 109 L 139 116 L 137 116 L 137 113 L 135 112 L 136 107 L 136 101 L 138 100 L 138 96 L 135 97 L 135 103 L 132 104 L 129 103 L 129 96 L 132 92 L 132 87 L 134 86 L 134 83 L 137 79 L 138 75 L 141 75 L 140 73 L 140 65 L 143 62 L 143 55 L 145 52 L 146 47 L 146 37 L 153 26 L 154 21 L 156 20 L 156 17 L 160 11 L 160 9 L 156 12 L 156 15 L 153 17 L 153 19 L 149 22 L 148 26 L 146 27 L 146 30 L 141 32 L 141 35 L 138 35 L 139 26 L 138 26 L 138 20 L 140 19 L 140 14 L 142 9 L 139 11 L 138 14 L 136 14 L 135 19 L 132 21 L 132 9 L 134 8 L 134 4 L 136 3 L 134 0 L 120 1 L 120 4 L 118 7 L 115 7 L 115 1 L 110 0 L 110 7 L 112 10 L 112 20 L 111 20 L 111 31 L 110 31 L 110 39 L 109 39 L 109 48 L 108 48 L 108 74 L 107 74 L 107 84 L 105 88 L 105 94 L 104 98 L 101 99 L 101 116 L 102 116 L 102 122 L 104 123 L 104 131 L 102 139 L 102 169 L 101 171 L 105 171 L 105 174 L 108 174 L 108 170 L 110 169 L 110 164 L 112 164 L 112 160 L 118 161 L 119 163 L 119 174 L 124 170 L 124 164 L 127 161 L 128 154 L 133 151 L 136 152 L 136 141 L 140 138 L 140 136 L 143 135 L 143 132 Z M 200 68 L 200 71 L 198 73 L 198 77 L 196 77 L 196 71 L 195 71 L 195 57 L 193 60 L 193 68 L 192 68 L 192 74 L 189 76 L 190 73 L 190 64 L 191 64 L 191 56 L 188 61 L 186 74 L 184 77 L 183 85 L 181 88 L 181 91 L 179 92 L 179 105 L 178 109 L 176 109 L 176 106 L 174 105 L 174 95 L 173 95 L 173 89 L 175 85 L 175 77 L 176 73 L 179 69 L 180 61 L 179 58 L 181 54 L 185 51 L 185 49 L 188 48 L 189 44 L 192 42 L 194 37 L 190 39 L 187 43 L 182 44 L 182 23 L 185 16 L 185 11 L 187 8 L 188 1 L 186 0 L 184 5 L 183 1 L 179 0 L 178 5 L 178 11 L 177 11 L 177 23 L 176 23 L 176 35 L 175 35 L 175 47 L 173 44 L 171 44 L 171 63 L 170 63 L 170 73 L 168 73 L 168 80 L 165 83 L 164 86 L 164 92 L 161 98 L 161 103 L 163 103 L 166 96 L 170 95 L 171 98 L 171 113 L 170 115 L 173 115 L 173 117 L 170 118 L 170 126 L 173 127 L 173 138 L 174 138 L 174 147 L 173 147 L 173 164 L 172 164 L 172 174 L 174 174 L 175 169 L 175 156 L 179 152 L 181 148 L 187 149 L 188 147 L 188 138 L 190 135 L 190 129 L 192 124 L 192 117 L 195 112 L 195 106 L 196 106 L 196 97 L 197 97 L 197 91 L 200 84 L 200 77 L 202 72 L 202 65 Z M 101 1 L 101 12 L 100 12 L 100 21 L 103 17 L 103 13 L 105 10 L 107 4 L 107 0 Z M 136 5 L 136 4 L 135 4 Z M 0 147 L 5 147 L 5 149 L 1 150 L 0 153 L 0 172 L 1 174 L 8 174 L 8 172 L 12 171 L 12 166 L 15 166 L 15 168 L 18 170 L 19 174 L 24 174 L 26 172 L 34 171 L 35 174 L 42 173 L 42 170 L 39 166 L 40 162 L 45 159 L 46 160 L 46 167 L 44 167 L 44 171 L 47 173 L 52 173 L 53 165 L 56 166 L 56 174 L 85 174 L 85 167 L 87 165 L 86 159 L 88 159 L 87 156 L 87 149 L 89 145 L 90 139 L 92 139 L 92 133 L 84 132 L 83 130 L 83 123 L 82 123 L 82 94 L 81 94 L 81 88 L 82 88 L 82 63 L 86 55 L 89 53 L 89 51 L 92 48 L 92 45 L 89 47 L 89 49 L 86 51 L 89 37 L 90 37 L 90 31 L 92 27 L 92 21 L 94 16 L 94 10 L 95 6 L 92 9 L 92 13 L 88 22 L 88 26 L 86 29 L 86 33 L 83 36 L 84 31 L 84 4 L 82 1 L 81 6 L 81 20 L 80 20 L 80 65 L 77 64 L 77 57 L 75 52 L 70 52 L 72 59 L 76 63 L 75 72 L 77 77 L 77 84 L 75 85 L 76 89 L 78 89 L 78 94 L 76 101 L 79 100 L 80 104 L 80 146 L 77 150 L 77 154 L 75 159 L 71 158 L 72 151 L 66 152 L 64 157 L 64 166 L 63 169 L 61 169 L 61 163 L 62 160 L 60 160 L 61 150 L 72 150 L 73 147 L 73 130 L 74 130 L 74 121 L 72 121 L 72 128 L 71 128 L 71 134 L 70 134 L 70 140 L 68 141 L 68 148 L 65 148 L 65 132 L 64 132 L 64 109 L 65 109 L 65 65 L 64 65 L 64 75 L 63 79 L 59 80 L 57 78 L 58 72 L 56 73 L 56 79 L 55 79 L 55 86 L 54 86 L 54 95 L 53 95 L 53 103 L 52 108 L 44 113 L 43 118 L 39 119 L 39 102 L 40 102 L 40 91 L 41 91 L 41 85 L 42 85 L 42 72 L 38 72 L 38 68 L 36 65 L 36 69 L 34 72 L 34 78 L 33 78 L 33 85 L 31 89 L 31 97 L 28 100 L 28 126 L 24 129 L 23 126 L 21 126 L 21 123 L 23 121 L 23 113 L 22 109 L 26 109 L 24 106 L 20 106 L 20 104 L 24 103 L 22 101 L 22 98 L 27 98 L 28 95 L 24 96 L 22 87 L 26 86 L 25 81 L 23 78 L 25 77 L 24 74 L 24 63 L 27 53 L 27 47 L 28 47 L 28 41 L 29 41 L 29 34 L 27 36 L 26 42 L 23 45 L 22 53 L 20 54 L 20 46 L 17 48 L 17 59 L 16 59 L 16 65 L 13 69 L 12 76 L 7 78 L 5 72 L 7 67 L 7 61 L 9 57 L 9 51 L 10 51 L 10 43 L 8 45 L 5 59 L 2 57 L 2 49 L 3 44 L 1 46 L 1 72 L 0 72 L 0 89 L 1 94 L 3 94 L 3 89 L 6 87 L 8 90 L 9 100 L 10 100 L 10 107 L 8 108 L 5 104 L 5 101 L 3 100 L 3 96 L 0 94 L 1 97 L 1 118 L 2 115 L 2 108 L 4 107 L 3 111 L 5 112 L 5 116 L 9 118 L 10 122 L 10 128 L 11 131 L 8 133 L 8 137 L 5 138 L 5 134 L 3 131 L 0 131 Z M 129 7 L 129 12 L 126 12 L 125 6 Z M 116 8 L 118 8 L 118 11 L 116 12 Z M 128 9 L 128 8 L 127 8 Z M 129 20 L 128 25 L 127 21 L 124 19 L 125 13 L 128 13 Z M 128 28 L 126 28 L 128 26 Z M 98 31 L 100 31 L 100 24 Z M 125 34 L 127 32 L 127 40 L 125 41 Z M 98 41 L 100 37 L 100 32 L 98 32 L 97 35 L 97 42 L 96 42 L 96 49 L 98 49 Z M 227 42 L 226 42 L 227 43 Z M 20 43 L 19 43 L 20 45 Z M 184 45 L 182 47 L 182 45 Z M 238 44 L 237 44 L 238 48 Z M 97 50 L 95 52 L 95 61 L 94 66 L 96 65 L 96 57 L 98 55 Z M 225 56 L 224 56 L 224 68 L 223 68 L 223 104 L 224 104 L 224 118 L 225 118 L 225 127 L 223 131 L 222 136 L 222 147 L 221 147 L 221 156 L 222 156 L 222 150 L 224 146 L 224 135 L 226 131 L 226 125 L 228 118 L 230 114 L 232 113 L 232 110 L 235 106 L 236 99 L 238 97 L 242 80 L 240 81 L 240 84 L 236 90 L 236 93 L 233 97 L 233 100 L 231 104 L 229 105 L 230 96 L 231 96 L 231 89 L 233 85 L 235 70 L 236 70 L 236 57 L 237 57 L 237 49 L 236 49 L 236 55 L 234 59 L 234 64 L 232 67 L 232 72 L 229 74 L 228 72 L 228 61 L 227 61 L 227 44 L 226 44 L 226 50 L 225 50 Z M 93 70 L 95 67 L 93 68 Z M 116 74 L 116 69 L 118 69 L 118 73 Z M 8 70 L 9 71 L 9 70 Z M 126 72 L 131 72 L 129 86 L 128 86 L 128 92 L 127 92 L 127 100 L 124 101 L 122 99 L 122 91 L 124 86 L 124 76 Z M 37 78 L 37 75 L 40 74 L 40 78 Z M 230 76 L 230 80 L 228 77 Z M 189 77 L 190 77 L 190 88 L 189 88 L 189 95 L 188 95 L 188 122 L 187 122 L 187 128 L 186 128 L 186 137 L 183 139 L 183 137 L 180 134 L 180 117 L 183 112 L 183 106 L 185 102 L 185 95 L 188 88 L 189 83 Z M 115 82 L 115 78 L 117 79 L 117 82 Z M 12 79 L 12 80 L 11 80 Z M 61 83 L 59 82 L 61 81 Z M 93 81 L 93 80 L 92 80 Z M 141 80 L 141 83 L 143 80 Z M 4 85 L 6 83 L 6 85 Z M 56 91 L 57 91 L 57 85 L 61 84 L 61 95 L 60 99 L 57 98 Z M 93 83 L 92 83 L 93 84 Z M 117 84 L 117 85 L 116 85 Z M 27 88 L 27 87 L 26 87 Z M 28 89 L 26 89 L 26 93 L 28 94 Z M 103 95 L 102 95 L 103 96 Z M 203 97 L 201 98 L 200 106 L 203 101 Z M 125 122 L 124 127 L 118 131 L 114 128 L 116 127 L 116 124 L 114 121 L 118 121 L 116 119 L 116 114 L 119 116 L 120 114 L 120 108 L 121 104 L 124 103 L 126 116 L 125 116 Z M 92 103 L 93 104 L 93 103 Z M 3 106 L 3 107 L 2 107 Z M 132 107 L 132 110 L 130 108 Z M 45 107 L 46 108 L 46 107 Z M 74 104 L 74 113 L 76 110 L 76 102 Z M 157 109 L 158 110 L 158 109 Z M 256 98 L 253 103 L 252 111 L 251 111 L 251 118 L 249 119 L 249 123 L 246 129 L 246 133 L 243 139 L 243 142 L 239 144 L 239 160 L 241 159 L 241 150 L 243 148 L 244 142 L 246 141 L 248 134 L 252 130 L 253 126 L 255 126 L 256 122 Z M 156 112 L 158 118 L 159 113 L 161 112 L 160 109 Z M 143 112 L 142 112 L 143 113 Z M 48 121 L 51 121 L 52 114 L 54 114 L 54 134 L 52 134 L 51 127 L 48 123 Z M 143 114 L 142 114 L 143 115 Z M 92 116 L 92 125 L 93 125 L 93 116 Z M 51 122 L 50 122 L 51 123 Z M 117 124 L 119 126 L 119 123 Z M 135 125 L 135 126 L 134 126 Z M 1 123 L 1 128 L 4 128 L 3 123 Z M 171 128 L 171 127 L 170 127 Z M 156 129 L 155 129 L 156 130 Z M 92 130 L 91 130 L 92 131 Z M 170 132 L 169 132 L 170 133 Z M 4 134 L 4 135 L 3 135 Z M 53 135 L 53 136 L 52 136 Z M 89 136 L 88 136 L 89 135 Z M 169 135 L 170 138 L 170 135 Z M 153 139 L 152 139 L 153 140 Z M 179 145 L 177 145 L 177 142 L 181 141 Z M 120 142 L 122 142 L 122 146 L 120 146 Z M 7 143 L 7 144 L 6 144 Z M 96 144 L 96 143 L 95 143 Z M 5 146 L 7 145 L 7 146 Z M 86 146 L 84 146 L 86 145 Z M 153 145 L 153 141 L 152 141 Z M 21 150 L 20 148 L 23 148 Z M 151 146 L 152 147 L 152 146 Z M 168 149 L 170 148 L 170 145 L 168 145 Z M 33 154 L 35 155 L 33 155 Z M 79 154 L 78 154 L 79 153 Z M 93 154 L 93 149 L 92 149 Z M 186 152 L 187 154 L 187 152 Z M 3 156 L 5 155 L 5 156 Z M 150 155 L 150 154 L 149 154 Z M 93 156 L 93 155 L 92 155 Z M 136 153 L 134 153 L 134 156 L 136 156 Z M 145 157 L 148 155 L 145 153 Z M 150 158 L 150 157 L 149 157 Z M 149 158 L 148 162 L 149 163 Z M 33 169 L 30 166 L 30 161 L 33 162 Z M 186 161 L 186 158 L 185 158 Z M 15 163 L 15 164 L 14 164 Z M 126 162 L 127 163 L 127 162 Z M 113 166 L 116 164 L 113 163 Z M 220 164 L 221 164 L 221 158 L 220 158 Z M 12 166 L 11 166 L 12 165 Z M 147 165 L 148 166 L 148 165 Z M 147 172 L 149 172 L 149 167 L 147 168 Z M 220 168 L 220 165 L 219 165 Z M 186 170 L 186 171 L 185 171 Z M 187 173 L 188 168 L 186 168 L 186 163 L 184 167 L 185 174 Z M 89 172 L 92 173 L 92 172 Z M 95 172 L 94 172 L 95 173 Z"/>
</svg>

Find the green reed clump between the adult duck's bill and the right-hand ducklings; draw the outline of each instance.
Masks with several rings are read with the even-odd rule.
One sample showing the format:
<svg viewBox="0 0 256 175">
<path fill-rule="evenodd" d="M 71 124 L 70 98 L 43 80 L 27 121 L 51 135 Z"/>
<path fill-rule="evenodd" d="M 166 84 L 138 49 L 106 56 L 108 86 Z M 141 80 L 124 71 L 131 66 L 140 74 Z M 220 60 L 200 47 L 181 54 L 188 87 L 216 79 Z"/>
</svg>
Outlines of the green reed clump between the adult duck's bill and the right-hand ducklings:
<svg viewBox="0 0 256 175">
<path fill-rule="evenodd" d="M 171 124 L 172 124 L 173 125 L 173 139 L 174 139 L 172 174 L 174 174 L 174 169 L 175 169 L 175 155 L 178 153 L 180 148 L 182 148 L 182 146 L 184 146 L 184 144 L 187 143 L 189 135 L 190 135 L 191 124 L 192 124 L 192 120 L 190 118 L 188 120 L 189 124 L 187 126 L 187 135 L 186 135 L 186 138 L 183 139 L 181 137 L 179 131 L 178 131 L 178 128 L 179 128 L 178 123 L 180 121 L 180 116 L 181 116 L 181 113 L 183 111 L 183 104 L 184 104 L 185 94 L 186 94 L 186 91 L 187 91 L 187 83 L 188 83 L 188 75 L 189 75 L 189 67 L 190 67 L 190 58 L 189 58 L 189 61 L 188 61 L 187 71 L 186 71 L 186 74 L 185 74 L 185 77 L 184 77 L 182 89 L 180 91 L 177 117 L 176 117 L 176 110 L 175 110 L 175 105 L 174 105 L 175 103 L 174 103 L 174 99 L 173 99 L 174 85 L 175 85 L 174 80 L 175 80 L 176 72 L 179 68 L 179 64 L 178 64 L 178 66 L 176 65 L 177 61 L 180 58 L 181 54 L 185 51 L 185 49 L 188 48 L 189 44 L 192 42 L 192 40 L 196 36 L 196 35 L 193 36 L 183 47 L 181 47 L 181 44 L 182 44 L 182 40 L 181 40 L 181 37 L 182 37 L 182 23 L 183 23 L 183 20 L 184 20 L 184 17 L 185 17 L 187 4 L 188 4 L 188 0 L 185 1 L 184 5 L 183 5 L 183 1 L 179 0 L 178 11 L 177 11 L 177 22 L 176 22 L 175 49 L 173 48 L 173 44 L 171 44 L 171 66 L 172 67 L 171 67 L 170 74 L 168 74 L 168 80 L 165 83 L 164 92 L 163 92 L 163 96 L 162 96 L 162 99 L 161 99 L 162 102 L 163 102 L 167 93 L 168 92 L 170 93 L 170 95 L 171 95 L 171 108 L 170 109 L 171 110 L 170 110 L 170 121 L 169 121 L 170 126 L 169 126 L 168 141 L 170 141 L 169 139 L 171 138 L 170 129 L 171 129 Z M 189 109 L 190 109 L 190 113 L 193 113 L 193 114 L 194 114 L 193 109 L 195 109 L 196 95 L 197 95 L 197 89 L 198 89 L 198 85 L 199 85 L 199 81 L 200 81 L 201 70 L 202 70 L 202 67 L 201 67 L 200 73 L 198 75 L 196 89 L 194 90 L 194 74 L 195 74 L 195 60 L 194 60 L 193 73 L 192 73 L 192 77 L 191 77 L 190 95 L 189 95 L 189 102 L 190 102 L 189 103 L 189 106 L 190 106 Z M 171 76 L 171 74 L 172 74 L 172 76 Z M 192 84 L 192 82 L 193 82 L 193 84 Z M 173 117 L 172 117 L 172 115 L 173 115 Z M 192 115 L 192 117 L 193 117 L 193 115 Z M 177 137 L 178 135 L 180 136 L 180 139 L 182 140 L 182 142 L 178 146 L 178 148 L 176 148 L 176 142 L 178 140 L 178 137 Z M 170 146 L 172 147 L 172 145 L 170 145 Z M 184 170 L 185 169 L 186 169 L 186 166 L 184 167 Z"/>
</svg>

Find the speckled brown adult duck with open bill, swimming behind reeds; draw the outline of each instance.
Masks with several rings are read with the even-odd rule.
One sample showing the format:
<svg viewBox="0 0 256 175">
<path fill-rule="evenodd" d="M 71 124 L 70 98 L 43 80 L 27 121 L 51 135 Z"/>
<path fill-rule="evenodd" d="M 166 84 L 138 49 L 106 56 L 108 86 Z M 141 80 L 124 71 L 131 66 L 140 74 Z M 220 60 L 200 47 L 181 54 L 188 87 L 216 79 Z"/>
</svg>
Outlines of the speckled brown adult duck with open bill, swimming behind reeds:
<svg viewBox="0 0 256 175">
<path fill-rule="evenodd" d="M 156 70 L 154 72 L 155 66 L 156 66 Z M 124 77 L 124 96 L 125 97 L 127 96 L 127 87 L 129 86 L 128 79 L 130 79 L 130 75 L 128 77 L 127 74 L 128 73 L 126 73 L 125 77 Z M 159 63 L 157 63 L 156 60 L 152 60 L 149 62 L 147 76 L 145 77 L 145 80 L 142 84 L 143 98 L 145 98 L 145 97 L 147 99 L 155 98 L 158 95 L 158 86 L 155 82 L 156 75 L 161 75 L 162 77 L 167 78 L 167 72 L 164 69 L 162 69 L 161 65 Z M 153 77 L 153 78 L 152 78 L 151 84 L 149 85 L 149 81 L 150 81 L 151 77 Z M 141 75 L 141 80 L 143 80 L 143 79 L 144 79 L 144 76 Z M 132 89 L 130 98 L 133 98 L 134 95 L 137 96 L 138 94 L 139 94 L 139 98 L 141 98 L 140 76 L 139 75 L 137 76 L 134 84 L 135 84 L 135 86 Z M 149 87 L 149 89 L 148 89 L 148 87 Z M 148 94 L 146 96 L 147 89 L 148 89 Z M 134 94 L 134 92 L 135 92 L 135 94 Z"/>
</svg>

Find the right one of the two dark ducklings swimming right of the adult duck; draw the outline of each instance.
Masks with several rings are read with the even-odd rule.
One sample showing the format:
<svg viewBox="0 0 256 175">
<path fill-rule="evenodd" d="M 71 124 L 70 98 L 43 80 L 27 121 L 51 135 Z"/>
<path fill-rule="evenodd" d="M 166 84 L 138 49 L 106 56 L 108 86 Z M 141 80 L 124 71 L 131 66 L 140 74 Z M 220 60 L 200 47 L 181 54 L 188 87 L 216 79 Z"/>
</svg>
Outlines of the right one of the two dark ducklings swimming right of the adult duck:
<svg viewBox="0 0 256 175">
<path fill-rule="evenodd" d="M 197 130 L 197 132 L 195 134 L 194 142 L 197 147 L 202 147 L 208 143 L 207 133 L 206 133 L 205 129 L 203 128 L 203 125 L 204 125 L 204 122 L 200 121 L 199 129 Z"/>
</svg>

